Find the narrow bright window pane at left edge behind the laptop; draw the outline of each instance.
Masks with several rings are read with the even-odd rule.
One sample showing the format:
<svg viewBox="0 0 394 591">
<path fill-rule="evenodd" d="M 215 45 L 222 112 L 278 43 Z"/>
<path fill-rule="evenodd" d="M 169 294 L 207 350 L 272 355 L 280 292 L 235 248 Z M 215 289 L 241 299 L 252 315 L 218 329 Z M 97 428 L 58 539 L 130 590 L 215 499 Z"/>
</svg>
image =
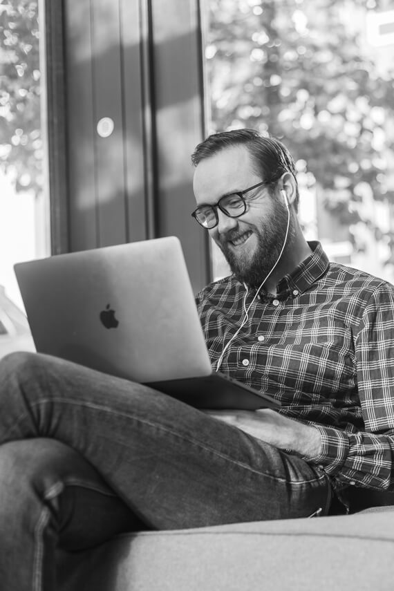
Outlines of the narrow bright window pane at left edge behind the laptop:
<svg viewBox="0 0 394 591">
<path fill-rule="evenodd" d="M 0 356 L 33 348 L 13 265 L 50 254 L 39 36 L 37 2 L 0 0 Z"/>
</svg>

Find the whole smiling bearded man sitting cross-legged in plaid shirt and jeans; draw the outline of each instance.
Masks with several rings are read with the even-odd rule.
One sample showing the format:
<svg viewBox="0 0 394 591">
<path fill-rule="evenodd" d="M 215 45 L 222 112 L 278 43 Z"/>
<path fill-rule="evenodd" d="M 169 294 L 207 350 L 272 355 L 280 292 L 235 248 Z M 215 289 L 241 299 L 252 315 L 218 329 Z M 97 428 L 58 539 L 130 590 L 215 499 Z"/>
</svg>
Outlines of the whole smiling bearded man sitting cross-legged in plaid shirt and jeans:
<svg viewBox="0 0 394 591">
<path fill-rule="evenodd" d="M 192 160 L 193 216 L 232 269 L 197 297 L 212 364 L 281 409 L 203 412 L 61 359 L 6 357 L 0 459 L 6 442 L 44 437 L 91 468 L 49 478 L 39 494 L 19 487 L 0 514 L 0 531 L 12 520 L 17 532 L 1 539 L 1 588 L 30 589 L 32 576 L 50 588 L 57 545 L 82 549 L 131 527 L 344 513 L 348 489 L 392 485 L 394 288 L 305 241 L 280 142 L 219 133 Z"/>
</svg>

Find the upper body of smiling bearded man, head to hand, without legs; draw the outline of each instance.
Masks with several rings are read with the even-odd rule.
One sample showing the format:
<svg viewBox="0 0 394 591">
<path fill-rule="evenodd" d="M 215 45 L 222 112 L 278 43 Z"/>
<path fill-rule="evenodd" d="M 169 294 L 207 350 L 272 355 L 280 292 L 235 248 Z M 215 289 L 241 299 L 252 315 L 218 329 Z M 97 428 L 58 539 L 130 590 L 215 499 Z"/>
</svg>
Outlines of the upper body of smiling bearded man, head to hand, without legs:
<svg viewBox="0 0 394 591">
<path fill-rule="evenodd" d="M 219 133 L 193 161 L 194 216 L 233 272 L 198 298 L 212 362 L 282 403 L 279 413 L 218 418 L 320 467 L 345 506 L 348 487 L 392 487 L 393 286 L 306 243 L 294 163 L 280 142 Z"/>
</svg>

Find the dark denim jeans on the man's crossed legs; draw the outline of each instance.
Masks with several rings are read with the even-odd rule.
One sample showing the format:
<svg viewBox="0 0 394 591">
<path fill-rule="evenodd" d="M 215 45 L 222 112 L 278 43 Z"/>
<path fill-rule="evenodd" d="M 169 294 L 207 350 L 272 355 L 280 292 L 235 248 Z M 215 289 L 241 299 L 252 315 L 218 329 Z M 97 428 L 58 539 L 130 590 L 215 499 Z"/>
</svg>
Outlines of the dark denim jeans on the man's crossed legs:
<svg viewBox="0 0 394 591">
<path fill-rule="evenodd" d="M 38 487 L 21 478 L 17 494 L 0 497 L 8 503 L 0 507 L 2 550 L 8 536 L 0 588 L 8 591 L 53 589 L 46 557 L 57 546 L 81 550 L 133 527 L 297 518 L 319 508 L 324 515 L 330 505 L 326 474 L 295 455 L 147 386 L 47 355 L 13 353 L 0 362 L 0 452 L 30 438 L 66 444 L 92 472 L 73 482 L 60 470 L 57 484 L 48 480 L 52 489 L 42 478 Z M 24 462 L 19 458 L 7 478 Z M 45 468 L 49 476 L 53 470 Z M 103 512 L 113 519 L 102 519 Z M 28 574 L 12 586 L 10 570 L 26 556 Z"/>
</svg>

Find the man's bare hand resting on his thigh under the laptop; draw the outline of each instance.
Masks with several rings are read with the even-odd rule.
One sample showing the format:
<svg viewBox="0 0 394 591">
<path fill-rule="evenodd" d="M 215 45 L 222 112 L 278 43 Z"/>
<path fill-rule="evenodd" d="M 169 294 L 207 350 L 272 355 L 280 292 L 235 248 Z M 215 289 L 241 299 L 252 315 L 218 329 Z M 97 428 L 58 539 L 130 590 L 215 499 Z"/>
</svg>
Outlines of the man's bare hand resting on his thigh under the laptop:
<svg viewBox="0 0 394 591">
<path fill-rule="evenodd" d="M 279 449 L 292 449 L 306 458 L 313 458 L 320 453 L 321 437 L 317 429 L 284 417 L 276 411 L 262 409 L 204 412 Z"/>
</svg>

